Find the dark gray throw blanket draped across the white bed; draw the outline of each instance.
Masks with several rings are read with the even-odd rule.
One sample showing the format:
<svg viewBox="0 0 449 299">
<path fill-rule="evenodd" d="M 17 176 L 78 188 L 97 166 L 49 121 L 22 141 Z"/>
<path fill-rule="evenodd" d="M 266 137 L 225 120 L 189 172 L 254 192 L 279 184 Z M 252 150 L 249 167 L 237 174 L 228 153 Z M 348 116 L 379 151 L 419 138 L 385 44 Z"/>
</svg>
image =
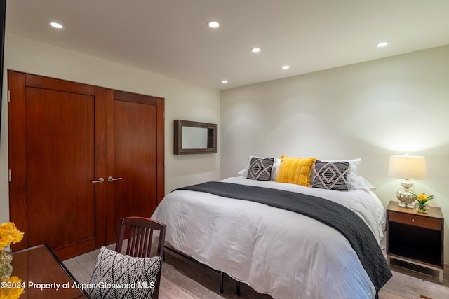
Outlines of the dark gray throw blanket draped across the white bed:
<svg viewBox="0 0 449 299">
<path fill-rule="evenodd" d="M 259 202 L 309 216 L 335 228 L 347 238 L 352 249 L 356 251 L 358 259 L 375 286 L 376 297 L 380 288 L 392 276 L 373 232 L 357 214 L 342 206 L 342 204 L 321 197 L 286 190 L 220 181 L 210 181 L 176 190 L 199 191 L 221 197 Z"/>
</svg>

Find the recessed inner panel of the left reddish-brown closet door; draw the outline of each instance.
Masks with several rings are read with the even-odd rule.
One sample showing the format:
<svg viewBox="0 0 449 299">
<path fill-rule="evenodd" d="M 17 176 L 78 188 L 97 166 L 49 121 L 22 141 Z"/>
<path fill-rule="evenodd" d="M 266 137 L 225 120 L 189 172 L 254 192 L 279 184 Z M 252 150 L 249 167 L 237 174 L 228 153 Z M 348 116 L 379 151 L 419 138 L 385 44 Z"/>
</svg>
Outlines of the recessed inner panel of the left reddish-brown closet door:
<svg viewBox="0 0 449 299">
<path fill-rule="evenodd" d="M 60 248 L 93 238 L 94 97 L 40 88 L 25 93 L 29 246 Z"/>
</svg>

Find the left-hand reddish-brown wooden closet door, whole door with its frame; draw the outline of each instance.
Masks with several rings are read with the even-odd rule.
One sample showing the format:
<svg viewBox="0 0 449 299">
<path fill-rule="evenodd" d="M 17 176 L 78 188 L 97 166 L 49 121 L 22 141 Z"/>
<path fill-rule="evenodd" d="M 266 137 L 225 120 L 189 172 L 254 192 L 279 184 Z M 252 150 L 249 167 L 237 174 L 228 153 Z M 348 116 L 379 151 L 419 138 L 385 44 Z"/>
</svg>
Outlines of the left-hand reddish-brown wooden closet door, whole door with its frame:
<svg viewBox="0 0 449 299">
<path fill-rule="evenodd" d="M 8 72 L 11 221 L 14 249 L 48 244 L 60 258 L 104 243 L 95 197 L 95 90 L 91 85 Z"/>
</svg>

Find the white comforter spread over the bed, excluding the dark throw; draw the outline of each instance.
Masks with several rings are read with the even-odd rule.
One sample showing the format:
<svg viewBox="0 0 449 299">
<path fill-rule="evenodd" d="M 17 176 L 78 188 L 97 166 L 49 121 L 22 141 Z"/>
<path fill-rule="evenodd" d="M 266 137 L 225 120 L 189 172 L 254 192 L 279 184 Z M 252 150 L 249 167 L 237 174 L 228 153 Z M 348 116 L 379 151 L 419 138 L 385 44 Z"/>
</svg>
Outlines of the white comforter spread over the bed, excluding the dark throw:
<svg viewBox="0 0 449 299">
<path fill-rule="evenodd" d="M 372 192 L 307 188 L 228 178 L 228 183 L 307 193 L 344 204 L 378 242 L 385 210 Z M 273 298 L 374 298 L 375 288 L 343 235 L 313 218 L 256 202 L 177 190 L 152 218 L 167 224 L 166 242 Z"/>
</svg>

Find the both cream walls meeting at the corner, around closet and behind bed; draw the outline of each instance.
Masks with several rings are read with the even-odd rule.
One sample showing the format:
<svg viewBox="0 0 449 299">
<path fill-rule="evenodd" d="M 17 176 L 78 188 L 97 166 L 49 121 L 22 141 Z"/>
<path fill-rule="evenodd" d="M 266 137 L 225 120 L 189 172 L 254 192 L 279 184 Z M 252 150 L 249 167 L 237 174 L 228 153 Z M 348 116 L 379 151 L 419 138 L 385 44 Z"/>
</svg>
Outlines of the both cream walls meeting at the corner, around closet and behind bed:
<svg viewBox="0 0 449 299">
<path fill-rule="evenodd" d="M 248 155 L 361 157 L 384 205 L 401 179 L 389 155 L 425 155 L 417 192 L 443 209 L 449 260 L 449 46 L 223 92 L 6 34 L 0 140 L 0 222 L 8 221 L 6 69 L 165 98 L 166 193 L 236 176 Z M 220 104 L 221 97 L 221 104 Z M 218 123 L 218 154 L 173 155 L 173 120 Z M 221 163 L 220 163 L 221 161 Z M 220 171 L 221 165 L 221 171 Z"/>
</svg>

